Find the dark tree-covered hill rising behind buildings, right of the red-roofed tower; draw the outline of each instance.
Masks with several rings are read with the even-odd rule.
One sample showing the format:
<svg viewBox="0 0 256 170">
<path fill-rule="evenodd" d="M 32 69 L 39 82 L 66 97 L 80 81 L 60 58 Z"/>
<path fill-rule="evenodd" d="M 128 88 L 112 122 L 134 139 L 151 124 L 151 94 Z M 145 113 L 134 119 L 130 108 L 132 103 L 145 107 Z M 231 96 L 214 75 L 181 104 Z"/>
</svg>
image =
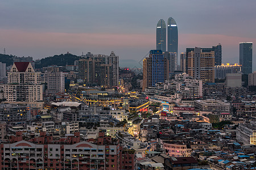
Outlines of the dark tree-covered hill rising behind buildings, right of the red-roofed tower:
<svg viewBox="0 0 256 170">
<path fill-rule="evenodd" d="M 67 54 L 60 54 L 55 55 L 53 57 L 46 57 L 41 59 L 40 64 L 36 64 L 35 67 L 40 69 L 42 67 L 47 67 L 50 65 L 57 65 L 57 66 L 65 66 L 65 65 L 74 65 L 75 60 L 79 59 L 79 56 L 67 53 Z"/>
</svg>

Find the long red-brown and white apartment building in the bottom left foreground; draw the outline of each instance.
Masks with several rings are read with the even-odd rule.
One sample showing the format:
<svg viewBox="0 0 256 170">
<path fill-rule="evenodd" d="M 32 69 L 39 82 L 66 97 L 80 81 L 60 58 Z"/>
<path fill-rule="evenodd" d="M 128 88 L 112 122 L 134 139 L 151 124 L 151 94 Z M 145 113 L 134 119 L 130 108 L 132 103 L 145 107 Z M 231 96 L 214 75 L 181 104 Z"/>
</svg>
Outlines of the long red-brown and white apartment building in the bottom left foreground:
<svg viewBox="0 0 256 170">
<path fill-rule="evenodd" d="M 119 140 L 100 133 L 80 141 L 80 134 L 53 139 L 45 132 L 23 140 L 21 132 L 1 143 L 0 169 L 135 169 L 134 151 L 122 150 Z"/>
</svg>

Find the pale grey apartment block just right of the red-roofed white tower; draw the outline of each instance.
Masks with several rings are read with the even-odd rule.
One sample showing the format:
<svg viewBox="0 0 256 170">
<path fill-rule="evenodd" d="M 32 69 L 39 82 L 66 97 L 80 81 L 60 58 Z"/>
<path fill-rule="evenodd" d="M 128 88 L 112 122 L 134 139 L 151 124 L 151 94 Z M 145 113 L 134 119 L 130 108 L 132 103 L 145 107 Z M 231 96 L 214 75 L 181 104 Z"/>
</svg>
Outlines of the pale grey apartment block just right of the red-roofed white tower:
<svg viewBox="0 0 256 170">
<path fill-rule="evenodd" d="M 46 95 L 65 92 L 65 76 L 63 72 L 47 73 Z"/>
</svg>

